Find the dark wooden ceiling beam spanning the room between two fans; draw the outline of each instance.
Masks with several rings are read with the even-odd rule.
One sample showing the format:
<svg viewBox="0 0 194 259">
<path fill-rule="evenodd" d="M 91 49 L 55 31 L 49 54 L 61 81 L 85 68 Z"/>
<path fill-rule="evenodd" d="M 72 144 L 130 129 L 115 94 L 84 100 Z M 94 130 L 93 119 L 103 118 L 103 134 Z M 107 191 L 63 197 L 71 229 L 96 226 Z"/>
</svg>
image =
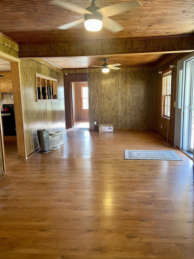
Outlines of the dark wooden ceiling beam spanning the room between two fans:
<svg viewBox="0 0 194 259">
<path fill-rule="evenodd" d="M 90 56 L 129 53 L 178 53 L 194 50 L 194 36 L 77 43 L 20 44 L 19 57 Z"/>
</svg>

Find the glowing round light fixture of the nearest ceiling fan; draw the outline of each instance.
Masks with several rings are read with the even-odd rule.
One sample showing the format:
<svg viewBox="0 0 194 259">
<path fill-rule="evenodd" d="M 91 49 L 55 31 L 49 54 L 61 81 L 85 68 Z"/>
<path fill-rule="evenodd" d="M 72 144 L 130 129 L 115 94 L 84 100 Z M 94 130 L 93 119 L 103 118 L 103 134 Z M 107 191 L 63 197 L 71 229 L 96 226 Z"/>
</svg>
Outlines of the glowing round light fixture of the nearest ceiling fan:
<svg viewBox="0 0 194 259">
<path fill-rule="evenodd" d="M 85 29 L 89 32 L 98 32 L 102 29 L 102 16 L 85 14 Z"/>
</svg>

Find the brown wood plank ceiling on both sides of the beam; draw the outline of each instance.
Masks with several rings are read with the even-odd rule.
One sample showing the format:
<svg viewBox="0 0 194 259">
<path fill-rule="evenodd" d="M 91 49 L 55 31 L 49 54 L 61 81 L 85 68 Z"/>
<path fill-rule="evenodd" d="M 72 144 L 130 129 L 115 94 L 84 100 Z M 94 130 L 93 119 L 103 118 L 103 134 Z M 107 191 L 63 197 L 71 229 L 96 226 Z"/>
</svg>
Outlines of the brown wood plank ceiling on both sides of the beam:
<svg viewBox="0 0 194 259">
<path fill-rule="evenodd" d="M 126 0 L 96 0 L 100 8 Z M 89 0 L 69 0 L 68 3 L 87 8 Z M 62 8 L 51 0 L 1 0 L 0 32 L 16 40 L 19 44 L 75 43 L 122 39 L 145 39 L 154 37 L 184 36 L 194 33 L 193 0 L 140 0 L 142 7 L 134 8 L 110 17 L 124 29 L 110 32 L 102 27 L 99 32 L 88 32 L 80 23 L 70 29 L 61 30 L 68 22 L 81 19 L 84 15 Z M 112 55 L 109 64 L 120 63 L 121 67 L 153 66 L 162 60 L 166 53 L 146 53 Z M 79 56 L 49 58 L 61 68 L 89 68 L 102 65 L 105 56 Z"/>
</svg>

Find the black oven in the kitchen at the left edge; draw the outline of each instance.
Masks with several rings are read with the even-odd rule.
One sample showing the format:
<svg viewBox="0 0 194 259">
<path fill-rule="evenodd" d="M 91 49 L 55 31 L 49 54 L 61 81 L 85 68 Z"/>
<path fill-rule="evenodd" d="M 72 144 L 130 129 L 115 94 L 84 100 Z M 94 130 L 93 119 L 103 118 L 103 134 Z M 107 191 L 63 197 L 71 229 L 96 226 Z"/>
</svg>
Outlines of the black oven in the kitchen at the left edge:
<svg viewBox="0 0 194 259">
<path fill-rule="evenodd" d="M 2 116 L 4 135 L 16 136 L 14 104 L 3 104 L 3 109 L 4 108 L 8 108 L 8 111 L 1 111 L 1 113 L 10 114 Z"/>
</svg>

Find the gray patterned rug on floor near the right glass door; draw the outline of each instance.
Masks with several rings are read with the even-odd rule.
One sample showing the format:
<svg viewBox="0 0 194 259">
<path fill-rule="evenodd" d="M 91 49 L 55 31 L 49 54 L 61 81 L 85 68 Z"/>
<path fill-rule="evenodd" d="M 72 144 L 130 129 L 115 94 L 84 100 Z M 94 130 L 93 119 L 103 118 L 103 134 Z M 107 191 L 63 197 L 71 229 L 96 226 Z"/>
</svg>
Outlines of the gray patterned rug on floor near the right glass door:
<svg viewBox="0 0 194 259">
<path fill-rule="evenodd" d="M 125 150 L 125 159 L 178 160 L 182 159 L 174 151 L 161 150 Z"/>
</svg>

